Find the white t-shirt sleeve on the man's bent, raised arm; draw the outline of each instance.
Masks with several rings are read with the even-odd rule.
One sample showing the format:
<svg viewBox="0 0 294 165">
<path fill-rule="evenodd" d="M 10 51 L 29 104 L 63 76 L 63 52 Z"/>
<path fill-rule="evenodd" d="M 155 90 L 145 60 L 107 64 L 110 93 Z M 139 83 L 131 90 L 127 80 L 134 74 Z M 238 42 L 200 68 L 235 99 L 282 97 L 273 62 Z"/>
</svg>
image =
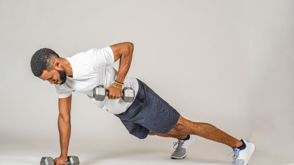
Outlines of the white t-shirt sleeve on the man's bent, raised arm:
<svg viewBox="0 0 294 165">
<path fill-rule="evenodd" d="M 106 65 L 114 63 L 114 55 L 110 46 L 102 49 L 94 48 L 91 50 L 92 51 L 90 52 L 92 53 L 93 67 L 95 69 L 101 69 L 104 68 Z"/>
</svg>

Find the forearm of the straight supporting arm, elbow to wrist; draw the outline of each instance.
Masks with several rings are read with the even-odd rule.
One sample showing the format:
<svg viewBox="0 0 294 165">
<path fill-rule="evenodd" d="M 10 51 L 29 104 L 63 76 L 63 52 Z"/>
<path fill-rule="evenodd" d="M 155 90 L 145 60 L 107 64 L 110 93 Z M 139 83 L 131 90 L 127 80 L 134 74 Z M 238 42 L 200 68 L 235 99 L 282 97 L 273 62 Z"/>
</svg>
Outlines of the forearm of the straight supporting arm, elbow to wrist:
<svg viewBox="0 0 294 165">
<path fill-rule="evenodd" d="M 69 138 L 71 136 L 71 120 L 70 116 L 58 117 L 58 129 L 59 129 L 59 140 L 61 148 L 61 157 L 67 156 L 67 151 L 69 149 Z"/>
</svg>

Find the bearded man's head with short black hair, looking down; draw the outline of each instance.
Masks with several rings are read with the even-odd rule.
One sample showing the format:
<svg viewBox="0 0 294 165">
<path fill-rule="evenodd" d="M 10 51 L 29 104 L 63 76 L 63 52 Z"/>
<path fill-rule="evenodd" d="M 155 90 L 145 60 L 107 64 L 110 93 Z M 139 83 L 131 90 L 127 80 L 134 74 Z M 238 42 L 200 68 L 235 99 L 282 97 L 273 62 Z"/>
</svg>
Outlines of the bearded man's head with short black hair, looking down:
<svg viewBox="0 0 294 165">
<path fill-rule="evenodd" d="M 64 84 L 66 72 L 61 66 L 59 55 L 49 48 L 42 48 L 31 58 L 31 70 L 36 77 L 51 84 Z"/>
</svg>

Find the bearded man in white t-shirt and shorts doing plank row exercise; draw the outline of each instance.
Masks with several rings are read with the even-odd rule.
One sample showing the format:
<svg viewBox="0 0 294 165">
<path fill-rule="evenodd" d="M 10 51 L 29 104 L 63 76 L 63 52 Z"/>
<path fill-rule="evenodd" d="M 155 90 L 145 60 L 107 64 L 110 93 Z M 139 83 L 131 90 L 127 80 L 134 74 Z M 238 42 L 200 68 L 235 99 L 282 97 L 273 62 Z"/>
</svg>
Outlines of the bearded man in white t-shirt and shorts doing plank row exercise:
<svg viewBox="0 0 294 165">
<path fill-rule="evenodd" d="M 211 124 L 192 122 L 183 118 L 173 107 L 159 97 L 145 83 L 127 77 L 133 55 L 133 44 L 118 43 L 103 49 L 90 49 L 72 57 L 61 58 L 48 48 L 43 48 L 31 58 L 31 70 L 36 77 L 54 84 L 59 97 L 58 128 L 61 155 L 55 158 L 56 165 L 67 161 L 71 134 L 71 94 L 88 95 L 97 107 L 115 114 L 121 119 L 130 134 L 144 139 L 149 135 L 174 137 L 178 142 L 171 155 L 183 159 L 194 143 L 195 135 L 226 144 L 233 148 L 232 164 L 247 165 L 255 145 L 243 139 L 237 140 Z M 112 63 L 120 59 L 118 71 Z M 93 98 L 93 88 L 103 85 L 109 92 L 104 101 Z M 131 87 L 136 97 L 133 102 L 121 99 L 122 87 Z"/>
</svg>

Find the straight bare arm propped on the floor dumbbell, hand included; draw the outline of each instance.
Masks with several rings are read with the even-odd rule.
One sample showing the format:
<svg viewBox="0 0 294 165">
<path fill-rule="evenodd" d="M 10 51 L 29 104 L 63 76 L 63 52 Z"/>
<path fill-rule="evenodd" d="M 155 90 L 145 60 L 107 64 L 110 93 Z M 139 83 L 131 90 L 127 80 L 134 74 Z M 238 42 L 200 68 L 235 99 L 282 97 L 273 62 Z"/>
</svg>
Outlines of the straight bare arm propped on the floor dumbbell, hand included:
<svg viewBox="0 0 294 165">
<path fill-rule="evenodd" d="M 54 159 L 56 165 L 63 164 L 65 161 L 67 161 L 69 138 L 71 136 L 71 95 L 66 98 L 59 98 L 58 107 L 58 129 L 61 154 L 58 158 Z"/>
</svg>

